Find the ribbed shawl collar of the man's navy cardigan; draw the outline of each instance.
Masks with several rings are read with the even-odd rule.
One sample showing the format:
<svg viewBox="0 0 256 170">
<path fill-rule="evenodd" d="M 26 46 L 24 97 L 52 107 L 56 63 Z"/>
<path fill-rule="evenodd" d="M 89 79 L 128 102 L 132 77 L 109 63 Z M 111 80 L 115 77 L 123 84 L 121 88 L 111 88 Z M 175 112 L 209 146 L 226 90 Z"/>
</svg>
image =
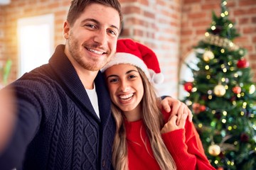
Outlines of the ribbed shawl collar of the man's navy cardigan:
<svg viewBox="0 0 256 170">
<path fill-rule="evenodd" d="M 68 96 L 71 96 L 71 98 L 76 98 L 87 111 L 92 113 L 92 116 L 95 119 L 99 120 L 92 107 L 90 98 L 87 96 L 87 92 L 82 85 L 82 81 L 80 81 L 80 78 L 78 77 L 75 68 L 71 64 L 70 60 L 68 60 L 68 57 L 65 55 L 64 50 L 65 45 L 58 45 L 55 49 L 55 52 L 53 53 L 53 56 L 49 60 L 50 66 L 57 74 L 56 81 L 59 81 L 60 85 L 63 86 L 63 89 L 66 91 Z M 101 72 L 98 72 L 97 77 L 95 78 L 95 88 L 98 98 L 100 98 L 100 96 L 104 96 L 108 99 L 105 101 L 99 101 L 99 103 L 102 102 L 99 105 L 100 118 L 105 119 L 106 116 L 109 115 L 105 114 L 105 112 L 110 111 L 110 96 L 107 93 L 107 89 L 105 88 Z M 105 108 L 102 108 L 102 106 L 104 106 Z"/>
</svg>

